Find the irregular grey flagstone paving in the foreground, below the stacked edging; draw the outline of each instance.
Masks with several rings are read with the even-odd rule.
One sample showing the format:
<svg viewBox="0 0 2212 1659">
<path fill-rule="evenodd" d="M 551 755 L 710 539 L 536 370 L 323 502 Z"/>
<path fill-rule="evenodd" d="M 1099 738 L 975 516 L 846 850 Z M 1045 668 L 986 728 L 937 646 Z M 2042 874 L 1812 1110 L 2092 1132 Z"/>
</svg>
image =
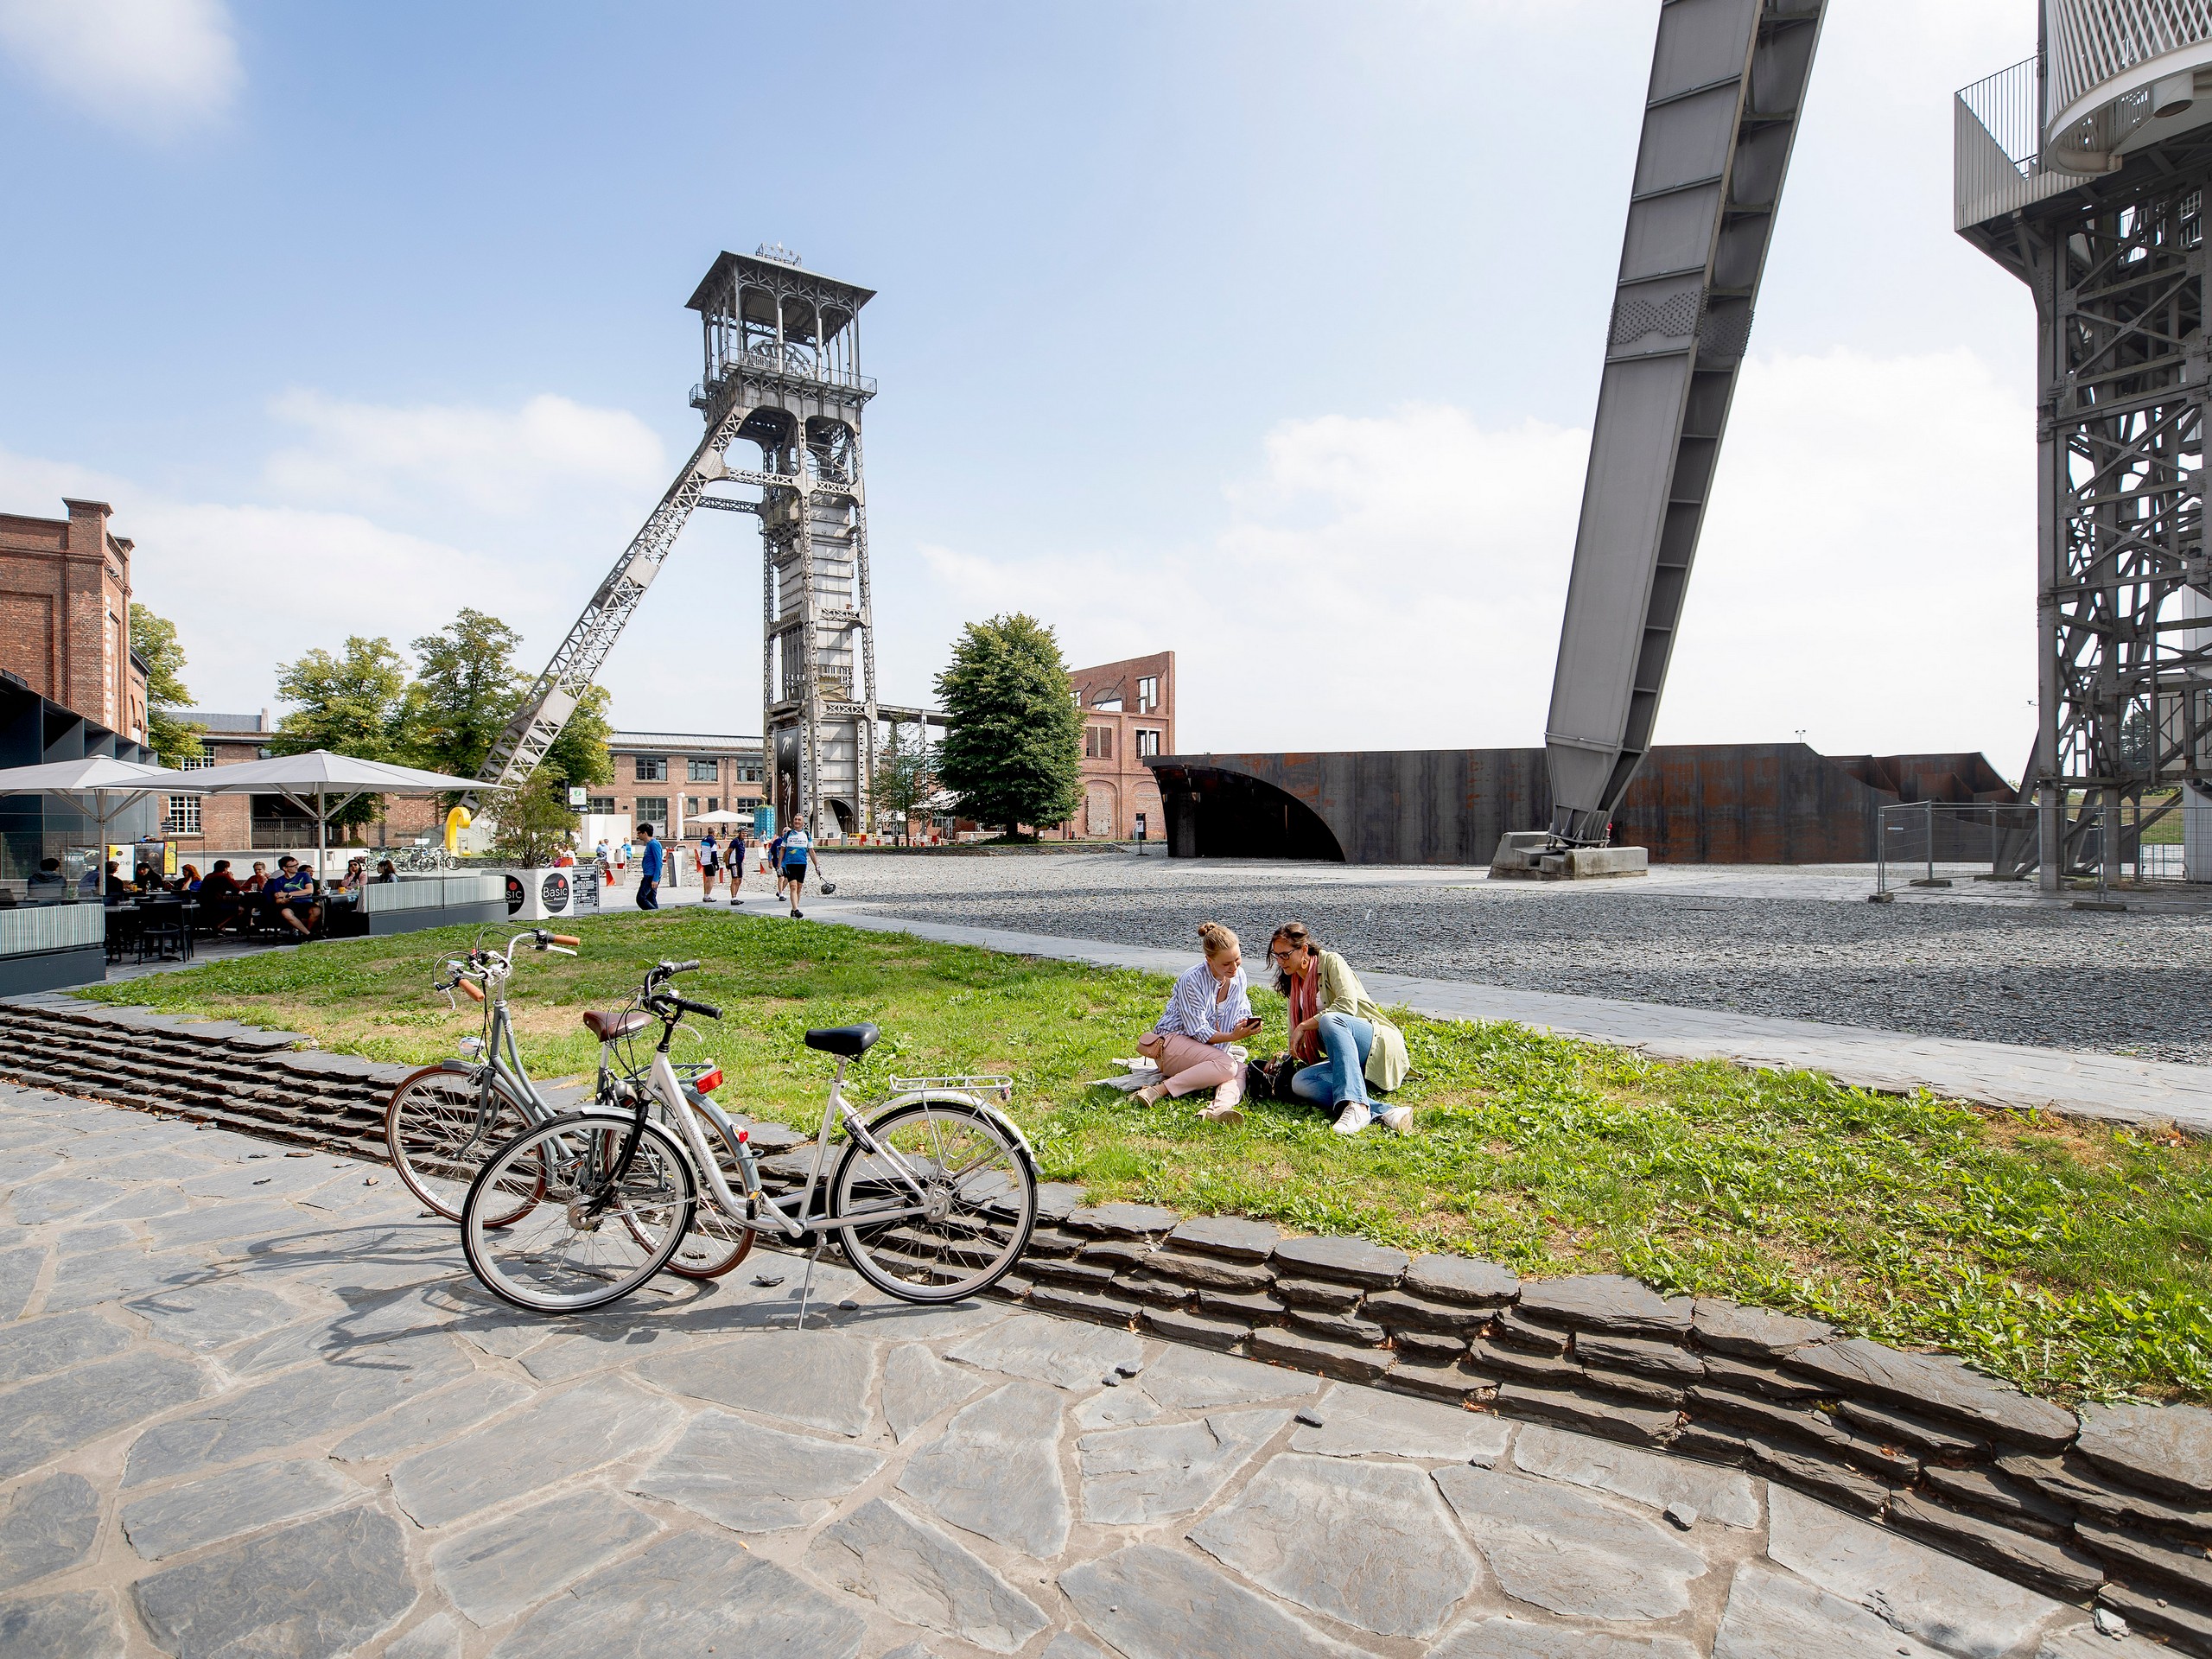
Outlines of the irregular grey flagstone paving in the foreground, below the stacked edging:
<svg viewBox="0 0 2212 1659">
<path fill-rule="evenodd" d="M 0 1652 L 2097 1659 L 1732 1469 L 757 1252 L 549 1323 L 387 1170 L 0 1088 Z M 754 1285 L 754 1279 L 779 1279 Z"/>
</svg>

